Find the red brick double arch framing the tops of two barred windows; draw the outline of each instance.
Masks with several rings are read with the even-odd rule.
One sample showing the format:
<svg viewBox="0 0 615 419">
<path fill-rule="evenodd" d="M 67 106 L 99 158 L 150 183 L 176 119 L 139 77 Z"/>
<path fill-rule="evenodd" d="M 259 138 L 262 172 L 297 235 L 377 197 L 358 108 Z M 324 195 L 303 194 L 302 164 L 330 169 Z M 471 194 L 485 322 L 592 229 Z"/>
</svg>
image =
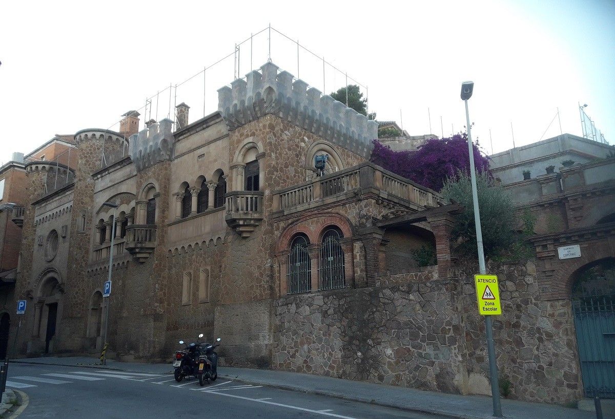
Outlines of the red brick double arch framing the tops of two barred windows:
<svg viewBox="0 0 615 419">
<path fill-rule="evenodd" d="M 314 228 L 309 227 L 308 223 L 316 222 Z M 330 227 L 335 225 L 344 234 L 344 238 L 352 237 L 353 227 L 349 219 L 338 213 L 324 213 L 324 214 L 312 214 L 303 216 L 292 224 L 288 225 L 280 234 L 280 238 L 277 241 L 276 251 L 281 252 L 290 247 L 290 241 L 297 233 L 303 233 L 308 236 L 310 243 L 319 243 L 322 233 Z"/>
</svg>

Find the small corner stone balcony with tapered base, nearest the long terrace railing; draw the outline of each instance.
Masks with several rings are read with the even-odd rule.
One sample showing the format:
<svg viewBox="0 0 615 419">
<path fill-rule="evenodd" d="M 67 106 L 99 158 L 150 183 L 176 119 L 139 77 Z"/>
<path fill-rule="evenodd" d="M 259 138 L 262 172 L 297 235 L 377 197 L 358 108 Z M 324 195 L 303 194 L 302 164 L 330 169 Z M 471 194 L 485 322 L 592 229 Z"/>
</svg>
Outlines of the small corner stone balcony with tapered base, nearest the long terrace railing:
<svg viewBox="0 0 615 419">
<path fill-rule="evenodd" d="M 241 237 L 250 237 L 263 221 L 262 190 L 234 190 L 226 194 L 226 224 Z"/>
</svg>

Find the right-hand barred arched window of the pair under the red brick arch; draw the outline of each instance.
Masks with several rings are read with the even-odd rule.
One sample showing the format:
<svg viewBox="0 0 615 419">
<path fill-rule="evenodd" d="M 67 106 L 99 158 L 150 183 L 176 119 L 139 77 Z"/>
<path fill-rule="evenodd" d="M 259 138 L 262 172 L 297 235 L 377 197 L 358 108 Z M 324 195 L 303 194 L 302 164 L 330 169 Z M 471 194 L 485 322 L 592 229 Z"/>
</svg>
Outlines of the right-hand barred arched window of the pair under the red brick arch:
<svg viewBox="0 0 615 419">
<path fill-rule="evenodd" d="M 341 231 L 335 227 L 327 229 L 320 246 L 319 280 L 320 289 L 344 288 L 344 251 L 339 241 Z"/>
</svg>

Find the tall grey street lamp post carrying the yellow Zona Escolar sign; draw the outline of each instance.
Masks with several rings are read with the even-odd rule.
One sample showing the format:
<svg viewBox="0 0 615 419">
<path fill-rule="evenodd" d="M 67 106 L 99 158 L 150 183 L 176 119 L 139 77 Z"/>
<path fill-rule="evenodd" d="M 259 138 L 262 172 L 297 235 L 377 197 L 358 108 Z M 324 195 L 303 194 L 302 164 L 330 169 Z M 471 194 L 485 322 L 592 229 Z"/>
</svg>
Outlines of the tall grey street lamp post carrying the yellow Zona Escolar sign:
<svg viewBox="0 0 615 419">
<path fill-rule="evenodd" d="M 474 150 L 472 148 L 472 133 L 470 132 L 470 112 L 467 109 L 467 100 L 472 97 L 473 90 L 474 82 L 463 82 L 461 84 L 461 99 L 466 103 L 467 149 L 470 155 L 470 179 L 472 181 L 472 203 L 474 205 L 474 224 L 476 226 L 478 268 L 480 268 L 481 275 L 486 275 L 487 268 L 485 266 L 485 252 L 483 251 L 483 232 L 480 228 L 480 212 L 478 210 L 478 189 L 476 186 L 476 171 L 474 168 Z M 485 329 L 487 335 L 487 351 L 489 354 L 493 415 L 495 417 L 502 417 L 502 406 L 499 399 L 498 365 L 496 364 L 496 351 L 493 347 L 493 324 L 491 322 L 491 316 L 485 316 Z"/>
</svg>

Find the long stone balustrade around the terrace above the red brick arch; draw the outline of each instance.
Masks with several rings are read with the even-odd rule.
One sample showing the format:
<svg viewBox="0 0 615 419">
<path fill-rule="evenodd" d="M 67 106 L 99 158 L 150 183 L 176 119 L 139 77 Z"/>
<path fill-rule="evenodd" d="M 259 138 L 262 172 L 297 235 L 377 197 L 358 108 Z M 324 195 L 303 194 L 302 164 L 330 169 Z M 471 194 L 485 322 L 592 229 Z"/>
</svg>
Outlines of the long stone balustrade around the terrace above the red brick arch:
<svg viewBox="0 0 615 419">
<path fill-rule="evenodd" d="M 320 205 L 323 200 L 339 200 L 370 190 L 381 197 L 401 198 L 423 208 L 442 202 L 442 197 L 429 188 L 371 163 L 362 163 L 274 192 L 274 212 L 300 211 Z"/>
</svg>

